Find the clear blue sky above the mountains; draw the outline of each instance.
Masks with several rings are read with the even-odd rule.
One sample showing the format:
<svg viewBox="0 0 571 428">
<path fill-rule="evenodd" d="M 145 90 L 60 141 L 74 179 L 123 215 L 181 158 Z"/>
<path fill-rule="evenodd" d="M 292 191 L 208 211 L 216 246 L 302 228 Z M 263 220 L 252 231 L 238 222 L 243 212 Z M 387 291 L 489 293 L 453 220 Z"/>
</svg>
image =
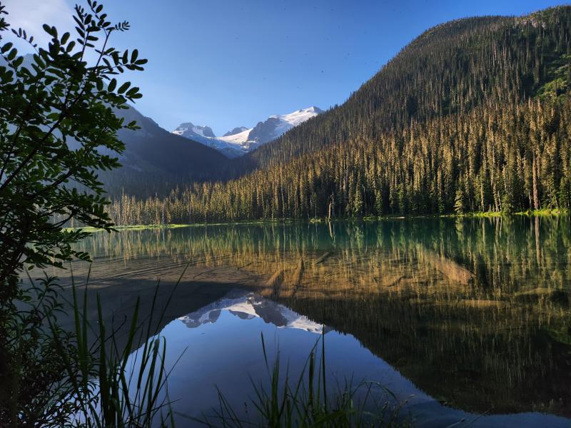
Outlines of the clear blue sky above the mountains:
<svg viewBox="0 0 571 428">
<path fill-rule="evenodd" d="M 4 0 L 16 26 L 71 26 L 75 1 Z M 81 4 L 81 1 L 79 1 Z M 521 15 L 550 0 L 103 0 L 131 31 L 118 48 L 137 48 L 146 71 L 136 108 L 172 131 L 191 121 L 217 136 L 278 113 L 343 103 L 425 29 L 475 15 Z"/>
</svg>

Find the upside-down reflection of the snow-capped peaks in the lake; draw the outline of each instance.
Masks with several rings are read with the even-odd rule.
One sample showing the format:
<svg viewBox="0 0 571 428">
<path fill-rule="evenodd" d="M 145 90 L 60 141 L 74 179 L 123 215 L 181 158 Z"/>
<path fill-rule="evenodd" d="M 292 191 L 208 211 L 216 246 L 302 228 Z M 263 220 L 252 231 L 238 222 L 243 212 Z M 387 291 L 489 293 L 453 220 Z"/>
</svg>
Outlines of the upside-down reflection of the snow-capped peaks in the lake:
<svg viewBox="0 0 571 428">
<path fill-rule="evenodd" d="M 253 292 L 243 290 L 232 290 L 220 300 L 179 317 L 178 320 L 181 320 L 188 328 L 196 328 L 216 322 L 223 310 L 227 310 L 242 320 L 258 317 L 279 328 L 296 328 L 318 334 L 323 331 L 323 325 L 309 320 L 308 317 L 299 315 L 288 307 L 264 299 Z M 327 331 L 325 329 L 325 332 Z"/>
</svg>

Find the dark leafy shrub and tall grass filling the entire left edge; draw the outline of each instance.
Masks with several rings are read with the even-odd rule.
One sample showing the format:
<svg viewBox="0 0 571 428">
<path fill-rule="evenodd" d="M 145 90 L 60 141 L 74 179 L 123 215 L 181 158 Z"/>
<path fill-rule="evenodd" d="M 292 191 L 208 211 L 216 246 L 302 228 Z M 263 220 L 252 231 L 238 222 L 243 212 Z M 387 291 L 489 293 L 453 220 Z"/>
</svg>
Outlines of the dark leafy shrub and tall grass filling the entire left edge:
<svg viewBox="0 0 571 428">
<path fill-rule="evenodd" d="M 151 318 L 147 325 L 140 323 L 138 305 L 127 344 L 120 347 L 116 326 L 103 323 L 100 304 L 98 324 L 89 325 L 86 299 L 81 305 L 74 293 L 73 302 L 64 305 L 56 278 L 34 282 L 29 277 L 27 284 L 20 279 L 32 267 L 89 260 L 87 253 L 72 248 L 89 231 L 64 230 L 69 220 L 113 230 L 97 172 L 119 165 L 117 158 L 102 153 L 123 151 L 117 132 L 136 125 L 124 124 L 116 111 L 141 97 L 138 88 L 118 83 L 114 76 L 125 69 L 143 70 L 146 60 L 138 58 L 136 49 L 120 54 L 108 46 L 128 23 L 113 25 L 101 5 L 87 4 L 87 9 L 75 8 L 76 38 L 44 25 L 51 37 L 47 49 L 23 29 L 12 29 L 34 49 L 32 61 L 19 56 L 11 43 L 0 46 L 2 427 L 151 427 L 168 422 L 165 345 L 160 337 L 146 340 L 156 331 Z M 10 30 L 6 14 L 0 4 L 0 41 L 1 32 Z M 86 59 L 90 55 L 93 64 Z M 59 325 L 61 312 L 70 307 L 75 318 L 71 332 Z M 137 348 L 140 357 L 127 377 L 126 364 Z"/>
</svg>

